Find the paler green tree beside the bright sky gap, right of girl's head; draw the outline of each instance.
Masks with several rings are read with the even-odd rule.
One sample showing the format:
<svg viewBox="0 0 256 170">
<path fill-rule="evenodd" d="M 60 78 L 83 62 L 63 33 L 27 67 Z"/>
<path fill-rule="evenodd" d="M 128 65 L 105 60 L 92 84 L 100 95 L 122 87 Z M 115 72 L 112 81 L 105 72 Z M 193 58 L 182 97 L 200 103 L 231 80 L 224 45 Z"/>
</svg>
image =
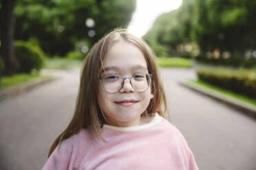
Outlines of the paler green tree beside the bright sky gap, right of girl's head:
<svg viewBox="0 0 256 170">
<path fill-rule="evenodd" d="M 158 16 L 153 27 L 143 38 L 149 45 L 166 47 L 166 51 L 173 55 L 178 45 L 191 41 L 191 13 L 191 0 L 183 0 L 178 10 Z"/>
</svg>

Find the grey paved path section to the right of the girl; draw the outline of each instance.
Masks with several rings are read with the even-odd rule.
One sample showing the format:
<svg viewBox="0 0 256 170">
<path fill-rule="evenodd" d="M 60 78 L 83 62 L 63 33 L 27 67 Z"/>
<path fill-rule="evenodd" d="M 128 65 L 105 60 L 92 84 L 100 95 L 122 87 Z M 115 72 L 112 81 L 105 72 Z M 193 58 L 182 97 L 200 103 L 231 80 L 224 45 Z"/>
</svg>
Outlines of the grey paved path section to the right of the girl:
<svg viewBox="0 0 256 170">
<path fill-rule="evenodd" d="M 255 170 L 256 121 L 178 85 L 192 69 L 162 69 L 171 123 L 184 134 L 202 170 Z"/>
</svg>

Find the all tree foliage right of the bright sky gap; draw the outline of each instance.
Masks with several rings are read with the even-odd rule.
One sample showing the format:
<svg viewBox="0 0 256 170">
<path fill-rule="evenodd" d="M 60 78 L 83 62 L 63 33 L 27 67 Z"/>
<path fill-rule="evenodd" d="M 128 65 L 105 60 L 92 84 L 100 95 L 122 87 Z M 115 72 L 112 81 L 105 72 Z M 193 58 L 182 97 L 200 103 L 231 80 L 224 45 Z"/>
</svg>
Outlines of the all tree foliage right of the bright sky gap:
<svg viewBox="0 0 256 170">
<path fill-rule="evenodd" d="M 256 49 L 255 16 L 254 0 L 183 0 L 178 10 L 159 16 L 144 38 L 172 49 L 196 42 L 202 55 L 217 49 L 244 58 Z"/>
</svg>

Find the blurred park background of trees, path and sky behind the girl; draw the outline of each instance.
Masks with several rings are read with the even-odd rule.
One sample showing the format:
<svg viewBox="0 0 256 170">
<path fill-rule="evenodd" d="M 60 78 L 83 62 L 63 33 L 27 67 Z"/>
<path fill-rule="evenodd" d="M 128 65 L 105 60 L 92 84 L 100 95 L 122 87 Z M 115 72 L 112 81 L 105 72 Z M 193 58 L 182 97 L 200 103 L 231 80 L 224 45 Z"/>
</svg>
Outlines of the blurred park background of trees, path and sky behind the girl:
<svg viewBox="0 0 256 170">
<path fill-rule="evenodd" d="M 116 27 L 156 53 L 200 169 L 256 169 L 255 0 L 1 0 L 0 169 L 41 169 L 89 49 Z"/>
</svg>

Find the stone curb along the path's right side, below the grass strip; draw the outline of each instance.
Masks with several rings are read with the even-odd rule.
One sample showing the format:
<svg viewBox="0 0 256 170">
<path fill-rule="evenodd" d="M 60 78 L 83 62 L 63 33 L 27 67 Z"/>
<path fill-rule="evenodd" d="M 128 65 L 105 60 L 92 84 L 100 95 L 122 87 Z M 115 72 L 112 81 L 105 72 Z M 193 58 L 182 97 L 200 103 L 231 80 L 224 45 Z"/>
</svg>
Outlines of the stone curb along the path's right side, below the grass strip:
<svg viewBox="0 0 256 170">
<path fill-rule="evenodd" d="M 191 90 L 194 90 L 198 93 L 202 93 L 203 95 L 206 95 L 213 99 L 217 99 L 217 101 L 222 101 L 222 103 L 224 103 L 228 106 L 231 106 L 232 108 L 235 108 L 237 110 L 240 110 L 243 113 L 248 114 L 251 117 L 256 119 L 256 106 L 254 106 L 253 104 L 248 104 L 244 101 L 240 101 L 233 97 L 223 95 L 220 92 L 211 90 L 209 88 L 205 88 L 204 86 L 199 86 L 199 85 L 188 83 L 188 82 L 178 82 L 178 84 L 180 84 L 186 88 L 189 88 Z"/>
</svg>

